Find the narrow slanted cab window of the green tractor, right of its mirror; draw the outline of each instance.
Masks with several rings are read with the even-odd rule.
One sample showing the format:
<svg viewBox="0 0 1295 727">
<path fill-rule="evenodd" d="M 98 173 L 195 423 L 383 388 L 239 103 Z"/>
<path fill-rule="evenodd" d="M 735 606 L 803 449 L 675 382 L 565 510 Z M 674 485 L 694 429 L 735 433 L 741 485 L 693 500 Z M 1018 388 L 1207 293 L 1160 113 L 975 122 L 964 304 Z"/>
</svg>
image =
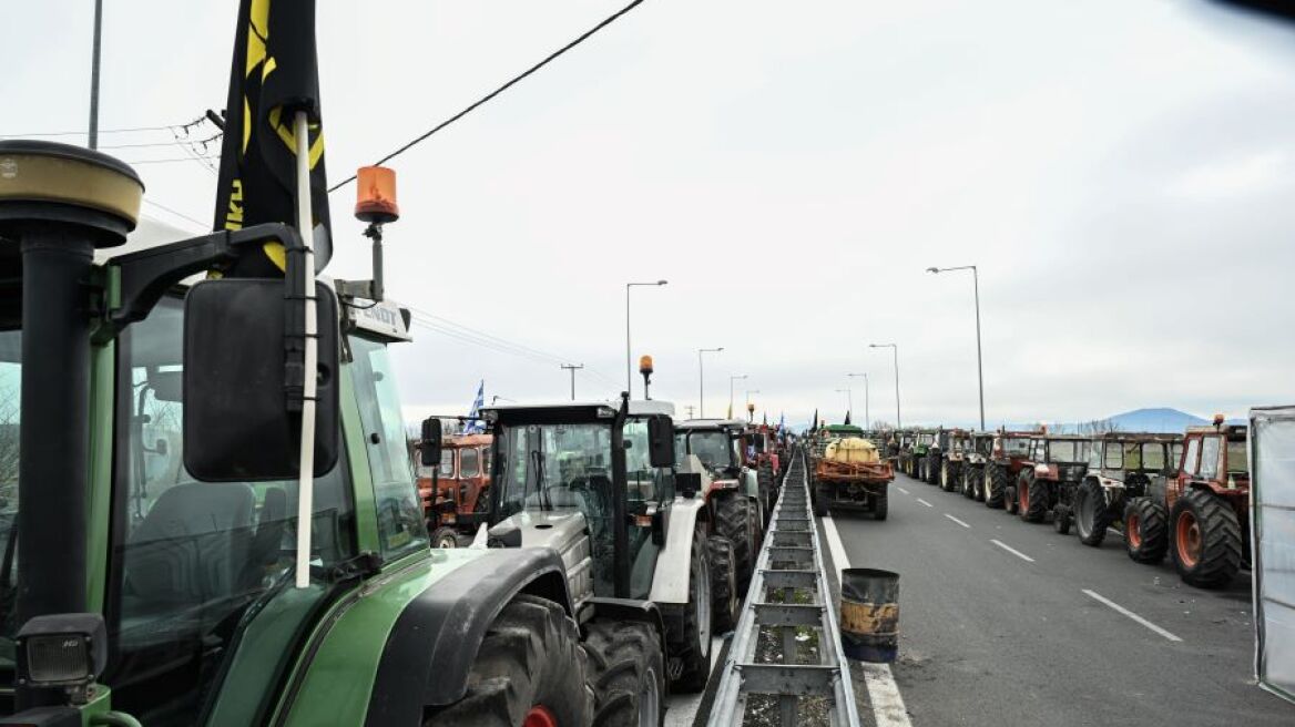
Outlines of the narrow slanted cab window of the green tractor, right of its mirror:
<svg viewBox="0 0 1295 727">
<path fill-rule="evenodd" d="M 404 445 L 404 415 L 387 347 L 360 336 L 351 336 L 350 344 L 354 361 L 348 369 L 369 455 L 378 539 L 382 558 L 394 560 L 426 548 L 427 528 L 422 521 L 409 449 Z"/>
</svg>

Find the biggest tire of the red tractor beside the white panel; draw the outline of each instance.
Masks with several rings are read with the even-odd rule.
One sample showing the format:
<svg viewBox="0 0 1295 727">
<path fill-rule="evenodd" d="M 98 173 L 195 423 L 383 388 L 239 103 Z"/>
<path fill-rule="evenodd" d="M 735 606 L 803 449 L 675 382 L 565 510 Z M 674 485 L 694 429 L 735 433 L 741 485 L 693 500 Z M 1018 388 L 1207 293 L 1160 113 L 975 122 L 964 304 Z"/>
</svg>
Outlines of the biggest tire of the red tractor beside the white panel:
<svg viewBox="0 0 1295 727">
<path fill-rule="evenodd" d="M 1169 517 L 1173 565 L 1198 589 L 1226 586 L 1241 569 L 1241 523 L 1221 498 L 1190 489 L 1173 503 Z"/>
</svg>

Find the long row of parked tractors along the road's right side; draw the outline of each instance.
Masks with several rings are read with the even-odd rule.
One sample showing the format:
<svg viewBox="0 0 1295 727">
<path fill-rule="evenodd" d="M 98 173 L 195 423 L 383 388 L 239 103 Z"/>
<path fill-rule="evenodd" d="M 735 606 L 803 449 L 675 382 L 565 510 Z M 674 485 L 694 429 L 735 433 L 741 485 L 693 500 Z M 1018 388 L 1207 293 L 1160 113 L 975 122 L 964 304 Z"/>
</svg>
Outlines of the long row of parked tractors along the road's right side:
<svg viewBox="0 0 1295 727">
<path fill-rule="evenodd" d="M 1193 586 L 1222 587 L 1250 567 L 1247 428 L 1222 417 L 1182 435 L 941 427 L 861 436 L 897 471 L 944 492 L 1050 521 L 1092 547 L 1114 533 L 1137 563 L 1168 555 Z"/>
</svg>

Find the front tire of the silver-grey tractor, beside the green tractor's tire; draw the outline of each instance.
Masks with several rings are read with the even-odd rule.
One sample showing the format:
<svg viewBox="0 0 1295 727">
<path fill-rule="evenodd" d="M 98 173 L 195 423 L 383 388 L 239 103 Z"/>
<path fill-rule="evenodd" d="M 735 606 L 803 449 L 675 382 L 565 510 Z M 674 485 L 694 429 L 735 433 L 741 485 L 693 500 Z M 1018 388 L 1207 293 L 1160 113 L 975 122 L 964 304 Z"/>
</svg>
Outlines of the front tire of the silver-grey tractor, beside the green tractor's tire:
<svg viewBox="0 0 1295 727">
<path fill-rule="evenodd" d="M 584 630 L 597 697 L 594 727 L 659 727 L 666 718 L 666 657 L 653 627 L 596 618 Z"/>
</svg>

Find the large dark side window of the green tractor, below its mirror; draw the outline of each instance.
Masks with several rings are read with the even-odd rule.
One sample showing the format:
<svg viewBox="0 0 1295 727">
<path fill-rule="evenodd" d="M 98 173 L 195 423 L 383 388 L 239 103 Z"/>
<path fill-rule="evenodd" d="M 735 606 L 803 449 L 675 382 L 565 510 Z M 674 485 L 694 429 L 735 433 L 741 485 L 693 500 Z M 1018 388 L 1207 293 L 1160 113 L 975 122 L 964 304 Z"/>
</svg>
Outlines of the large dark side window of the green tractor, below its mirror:
<svg viewBox="0 0 1295 727">
<path fill-rule="evenodd" d="M 196 723 L 240 620 L 287 592 L 284 627 L 304 622 L 328 592 L 326 570 L 356 552 L 344 450 L 315 480 L 312 585 L 300 591 L 297 480 L 199 483 L 184 468 L 183 326 L 167 298 L 117 345 L 106 682 L 114 706 L 150 726 Z"/>
</svg>

